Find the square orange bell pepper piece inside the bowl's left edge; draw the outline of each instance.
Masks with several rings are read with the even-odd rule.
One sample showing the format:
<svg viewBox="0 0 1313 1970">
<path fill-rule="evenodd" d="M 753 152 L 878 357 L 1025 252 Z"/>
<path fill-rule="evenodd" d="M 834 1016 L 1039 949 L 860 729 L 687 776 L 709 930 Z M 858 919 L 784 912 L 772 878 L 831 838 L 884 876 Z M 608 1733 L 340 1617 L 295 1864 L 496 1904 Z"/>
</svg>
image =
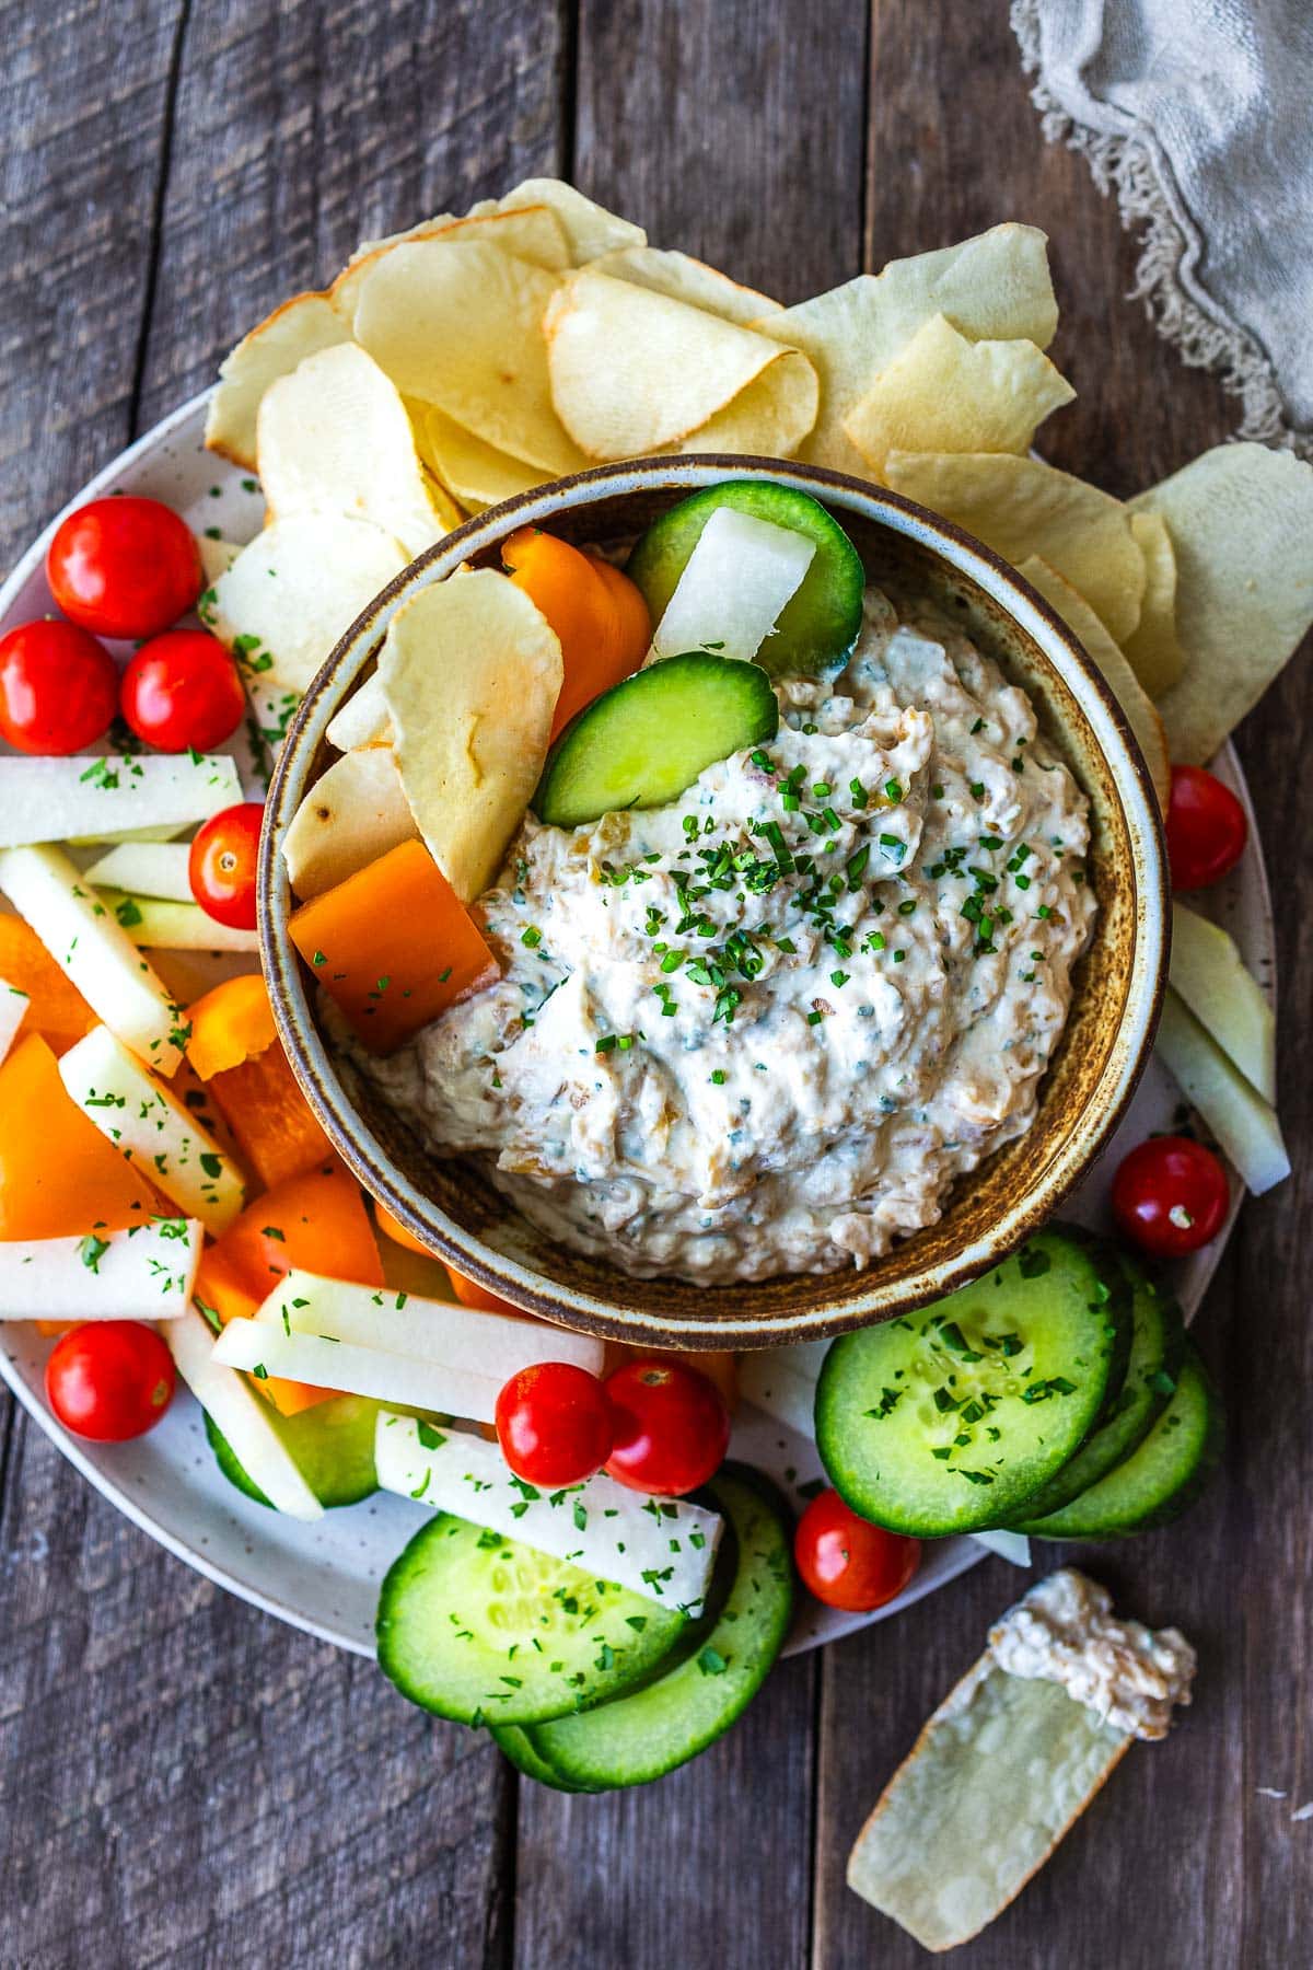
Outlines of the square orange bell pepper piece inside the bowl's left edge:
<svg viewBox="0 0 1313 1970">
<path fill-rule="evenodd" d="M 372 1054 L 390 1054 L 496 975 L 423 841 L 402 841 L 293 912 L 291 942 Z"/>
</svg>

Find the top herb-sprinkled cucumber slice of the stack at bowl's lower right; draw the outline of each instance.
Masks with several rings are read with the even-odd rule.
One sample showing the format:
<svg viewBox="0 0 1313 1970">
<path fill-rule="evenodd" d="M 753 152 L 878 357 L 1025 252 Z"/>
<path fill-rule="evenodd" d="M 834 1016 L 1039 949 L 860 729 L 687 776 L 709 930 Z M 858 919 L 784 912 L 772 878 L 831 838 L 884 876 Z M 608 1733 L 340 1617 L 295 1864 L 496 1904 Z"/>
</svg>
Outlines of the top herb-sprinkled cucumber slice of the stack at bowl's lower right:
<svg viewBox="0 0 1313 1970">
<path fill-rule="evenodd" d="M 919 1314 L 844 1334 L 817 1383 L 817 1450 L 864 1519 L 937 1539 L 1012 1515 L 1063 1468 L 1130 1349 L 1130 1292 L 1049 1225 Z"/>
</svg>

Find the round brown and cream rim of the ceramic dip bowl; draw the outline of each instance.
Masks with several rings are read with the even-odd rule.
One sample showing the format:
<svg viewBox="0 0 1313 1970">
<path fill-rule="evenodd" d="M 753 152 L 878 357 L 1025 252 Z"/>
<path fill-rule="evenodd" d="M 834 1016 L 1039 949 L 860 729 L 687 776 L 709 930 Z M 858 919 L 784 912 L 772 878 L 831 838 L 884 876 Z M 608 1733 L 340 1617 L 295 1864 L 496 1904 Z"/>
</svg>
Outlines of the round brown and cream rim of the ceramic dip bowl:
<svg viewBox="0 0 1313 1970">
<path fill-rule="evenodd" d="M 669 1320 L 661 1320 L 659 1314 L 648 1316 L 642 1310 L 612 1308 L 606 1300 L 575 1286 L 555 1286 L 545 1280 L 541 1273 L 535 1273 L 520 1265 L 516 1259 L 482 1245 L 482 1241 L 478 1241 L 472 1233 L 467 1233 L 463 1225 L 449 1217 L 441 1206 L 437 1206 L 431 1198 L 425 1198 L 417 1186 L 409 1184 L 402 1176 L 388 1150 L 382 1143 L 378 1143 L 372 1129 L 368 1129 L 364 1119 L 354 1109 L 317 1030 L 309 995 L 305 991 L 303 967 L 285 930 L 289 892 L 280 867 L 278 849 L 281 833 L 309 786 L 309 774 L 301 770 L 301 755 L 305 751 L 307 735 L 313 731 L 313 751 L 317 751 L 323 741 L 323 727 L 329 723 L 337 705 L 350 693 L 358 674 L 368 666 L 376 652 L 376 644 L 386 628 L 386 621 L 380 623 L 380 617 L 392 617 L 394 609 L 415 585 L 415 577 L 419 573 L 439 559 L 449 559 L 455 567 L 457 561 L 463 559 L 463 550 L 469 542 L 476 540 L 480 548 L 486 548 L 518 524 L 522 526 L 533 520 L 549 524 L 553 512 L 559 512 L 563 506 L 575 508 L 591 504 L 587 496 L 571 498 L 569 494 L 587 494 L 591 489 L 596 489 L 598 496 L 602 492 L 618 496 L 628 491 L 640 491 L 642 485 L 650 481 L 665 481 L 675 489 L 685 487 L 693 492 L 703 485 L 713 485 L 730 477 L 772 479 L 785 485 L 797 485 L 799 491 L 821 498 L 825 498 L 827 491 L 837 492 L 843 496 L 841 508 L 856 502 L 864 510 L 864 518 L 878 526 L 888 526 L 890 514 L 902 516 L 906 524 L 894 524 L 892 532 L 941 554 L 953 573 L 970 579 L 996 607 L 1002 609 L 1002 613 L 1024 636 L 1032 636 L 1043 660 L 1057 670 L 1063 684 L 1069 684 L 1061 666 L 1053 664 L 1045 638 L 1049 644 L 1061 646 L 1067 664 L 1081 682 L 1085 693 L 1081 707 L 1087 713 L 1087 723 L 1093 723 L 1089 721 L 1091 709 L 1102 713 L 1104 721 L 1112 727 L 1116 739 L 1120 741 L 1122 760 L 1118 764 L 1130 772 L 1132 788 L 1138 794 L 1138 810 L 1132 814 L 1126 804 L 1122 772 L 1112 768 L 1104 739 L 1096 729 L 1093 729 L 1094 745 L 1098 747 L 1098 753 L 1108 768 L 1108 780 L 1120 806 L 1122 825 L 1132 839 L 1132 849 L 1138 849 L 1138 853 L 1132 853 L 1136 910 L 1130 975 L 1134 979 L 1136 971 L 1140 971 L 1142 977 L 1140 997 L 1132 999 L 1128 993 L 1122 1026 L 1118 1028 L 1116 1042 L 1110 1048 L 1108 1062 L 1096 1085 L 1096 1093 L 1100 1093 L 1104 1084 L 1112 1082 L 1112 1093 L 1102 1095 L 1093 1119 L 1089 1115 L 1091 1103 L 1087 1103 L 1075 1119 L 1067 1143 L 1059 1145 L 1049 1164 L 1045 1164 L 1039 1172 L 1033 1196 L 1018 1208 L 1012 1208 L 996 1231 L 978 1235 L 953 1259 L 927 1269 L 923 1280 L 898 1282 L 896 1296 L 882 1294 L 880 1280 L 876 1277 L 876 1263 L 870 1290 L 837 1302 L 831 1308 L 823 1304 L 813 1308 L 787 1308 L 776 1318 L 754 1318 L 752 1314 L 744 1314 L 730 1318 L 719 1316 L 715 1320 L 707 1318 L 699 1322 L 697 1316 L 681 1316 L 677 1324 L 671 1324 Z M 1022 613 L 1018 613 L 1018 605 Z M 1039 630 L 1043 630 L 1043 636 L 1037 636 L 1035 628 L 1024 621 L 1026 613 L 1033 617 L 1033 623 Z M 343 680 L 339 676 L 339 668 L 350 656 L 352 648 L 356 652 L 356 662 L 350 676 Z M 1087 703 L 1089 697 L 1094 701 L 1093 707 Z M 325 699 L 333 701 L 331 711 L 327 713 L 321 709 Z M 307 755 L 307 760 L 313 760 L 313 751 Z M 386 1210 L 413 1237 L 417 1237 L 427 1251 L 433 1253 L 433 1257 L 455 1265 L 469 1279 L 476 1280 L 480 1286 L 512 1302 L 524 1312 L 561 1326 L 593 1332 L 608 1340 L 691 1349 L 770 1347 L 783 1342 L 821 1340 L 833 1334 L 843 1334 L 852 1328 L 868 1326 L 874 1320 L 894 1318 L 902 1312 L 925 1306 L 927 1302 L 951 1292 L 955 1286 L 976 1279 L 980 1273 L 988 1271 L 990 1265 L 996 1265 L 1008 1253 L 1016 1251 L 1018 1245 L 1039 1229 L 1039 1225 L 1051 1219 L 1055 1210 L 1081 1182 L 1098 1152 L 1106 1147 L 1112 1131 L 1130 1105 L 1157 1028 L 1157 1017 L 1165 991 L 1169 936 L 1165 841 L 1154 782 L 1148 766 L 1144 764 L 1126 713 L 1112 695 L 1094 662 L 1085 654 L 1069 624 L 1057 615 L 1045 597 L 1032 589 L 1014 567 L 1010 567 L 982 542 L 898 492 L 890 492 L 884 487 L 872 487 L 860 479 L 848 477 L 846 473 L 799 465 L 789 459 L 717 453 L 630 459 L 616 465 L 598 465 L 591 471 L 575 473 L 569 479 L 551 481 L 531 492 L 520 492 L 516 498 L 504 500 L 500 506 L 490 506 L 484 512 L 474 514 L 470 520 L 465 520 L 459 528 L 455 528 L 455 532 L 447 534 L 443 540 L 435 542 L 435 546 L 417 556 L 415 561 L 411 561 L 394 581 L 388 583 L 386 589 L 374 597 L 368 609 L 364 609 L 352 626 L 339 638 L 337 646 L 311 680 L 287 729 L 287 737 L 270 782 L 266 825 L 260 839 L 258 924 L 260 957 L 270 983 L 274 1020 L 293 1074 L 335 1150 L 343 1156 L 370 1196 L 382 1202 Z M 1144 997 L 1146 987 L 1148 999 Z M 1128 1020 L 1134 1022 L 1138 1030 L 1130 1052 L 1126 1054 L 1126 1048 L 1120 1042 L 1124 1040 Z M 1081 1139 L 1079 1154 L 1073 1154 L 1069 1149 L 1073 1137 Z M 819 1296 L 823 1296 L 825 1280 L 829 1277 L 843 1277 L 844 1280 L 850 1279 L 846 1273 L 793 1277 L 799 1280 L 815 1279 Z M 636 1292 L 642 1292 L 644 1280 L 630 1280 L 630 1284 Z M 687 1284 L 691 1294 L 703 1290 L 693 1282 Z M 732 1286 L 732 1290 L 750 1298 L 758 1284 L 768 1282 L 744 1280 L 742 1284 Z"/>
</svg>

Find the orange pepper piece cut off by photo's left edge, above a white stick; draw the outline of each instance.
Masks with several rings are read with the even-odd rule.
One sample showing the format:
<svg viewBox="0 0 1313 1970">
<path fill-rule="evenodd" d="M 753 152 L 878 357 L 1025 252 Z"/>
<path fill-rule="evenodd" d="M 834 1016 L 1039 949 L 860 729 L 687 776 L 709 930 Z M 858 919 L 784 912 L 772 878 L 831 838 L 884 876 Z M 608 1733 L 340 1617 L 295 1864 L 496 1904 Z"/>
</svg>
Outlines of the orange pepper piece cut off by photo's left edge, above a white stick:
<svg viewBox="0 0 1313 1970">
<path fill-rule="evenodd" d="M 0 1066 L 0 1237 L 77 1237 L 177 1217 L 83 1115 L 39 1032 Z"/>
</svg>

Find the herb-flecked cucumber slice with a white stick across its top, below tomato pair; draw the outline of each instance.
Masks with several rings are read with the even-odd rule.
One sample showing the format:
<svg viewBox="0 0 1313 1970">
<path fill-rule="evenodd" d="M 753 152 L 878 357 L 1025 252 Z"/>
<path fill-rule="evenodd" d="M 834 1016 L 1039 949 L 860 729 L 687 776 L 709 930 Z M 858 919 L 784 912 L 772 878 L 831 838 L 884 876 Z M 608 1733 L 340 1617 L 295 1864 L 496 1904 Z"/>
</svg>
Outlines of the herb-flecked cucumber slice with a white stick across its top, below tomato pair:
<svg viewBox="0 0 1313 1970">
<path fill-rule="evenodd" d="M 378 1596 L 378 1667 L 457 1724 L 535 1724 L 618 1696 L 685 1615 L 453 1513 L 415 1533 Z"/>
</svg>

